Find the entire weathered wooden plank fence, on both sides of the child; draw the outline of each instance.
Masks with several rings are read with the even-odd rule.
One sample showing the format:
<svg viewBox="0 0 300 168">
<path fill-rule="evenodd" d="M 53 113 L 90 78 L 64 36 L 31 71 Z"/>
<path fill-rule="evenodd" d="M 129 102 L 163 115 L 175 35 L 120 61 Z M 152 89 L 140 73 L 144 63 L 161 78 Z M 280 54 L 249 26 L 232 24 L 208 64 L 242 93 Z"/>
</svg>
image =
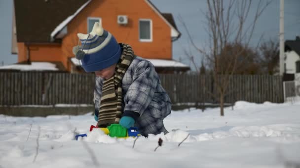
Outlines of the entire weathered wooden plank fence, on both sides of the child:
<svg viewBox="0 0 300 168">
<path fill-rule="evenodd" d="M 218 103 L 213 78 L 197 74 L 159 74 L 172 103 Z M 93 104 L 94 74 L 0 72 L 0 105 Z M 238 100 L 283 102 L 280 76 L 234 75 L 226 103 Z"/>
</svg>

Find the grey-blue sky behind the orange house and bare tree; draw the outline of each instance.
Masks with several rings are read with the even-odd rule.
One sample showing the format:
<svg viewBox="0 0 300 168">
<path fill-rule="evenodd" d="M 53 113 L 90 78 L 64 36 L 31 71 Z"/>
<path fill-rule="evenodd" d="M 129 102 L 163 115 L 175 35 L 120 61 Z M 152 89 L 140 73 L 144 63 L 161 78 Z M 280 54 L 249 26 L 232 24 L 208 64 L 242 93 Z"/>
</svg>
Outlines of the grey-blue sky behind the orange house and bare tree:
<svg viewBox="0 0 300 168">
<path fill-rule="evenodd" d="M 255 0 L 256 1 L 256 0 Z M 184 53 L 184 49 L 190 50 L 196 56 L 196 62 L 200 65 L 201 56 L 190 47 L 188 35 L 179 17 L 188 27 L 194 42 L 203 47 L 208 42 L 208 34 L 205 30 L 205 18 L 202 12 L 207 11 L 206 0 L 151 0 L 151 2 L 162 12 L 172 13 L 176 25 L 182 36 L 173 42 L 173 59 L 191 65 Z M 13 64 L 17 62 L 17 55 L 11 55 L 11 26 L 12 26 L 13 0 L 0 0 L 0 65 Z M 255 3 L 254 3 L 255 5 Z M 300 0 L 285 0 L 285 39 L 294 40 L 300 35 Z M 263 35 L 265 40 L 278 38 L 279 34 L 279 10 L 280 0 L 273 0 L 263 11 L 259 18 L 253 36 L 252 44 L 257 44 Z M 194 67 L 192 67 L 194 69 Z"/>
</svg>

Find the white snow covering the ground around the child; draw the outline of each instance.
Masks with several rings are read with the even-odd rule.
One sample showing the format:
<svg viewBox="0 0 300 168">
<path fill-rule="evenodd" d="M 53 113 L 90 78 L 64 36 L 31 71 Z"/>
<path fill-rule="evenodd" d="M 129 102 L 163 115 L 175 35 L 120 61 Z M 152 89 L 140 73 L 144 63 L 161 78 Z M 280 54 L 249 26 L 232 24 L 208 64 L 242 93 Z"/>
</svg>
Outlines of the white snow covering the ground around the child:
<svg viewBox="0 0 300 168">
<path fill-rule="evenodd" d="M 300 103 L 239 101 L 234 110 L 225 109 L 224 117 L 219 110 L 172 112 L 165 126 L 178 130 L 139 138 L 134 148 L 134 139 L 110 138 L 100 130 L 88 132 L 95 124 L 91 113 L 0 115 L 0 168 L 300 167 Z M 77 133 L 88 137 L 76 141 Z M 154 152 L 159 138 L 163 145 Z"/>
</svg>

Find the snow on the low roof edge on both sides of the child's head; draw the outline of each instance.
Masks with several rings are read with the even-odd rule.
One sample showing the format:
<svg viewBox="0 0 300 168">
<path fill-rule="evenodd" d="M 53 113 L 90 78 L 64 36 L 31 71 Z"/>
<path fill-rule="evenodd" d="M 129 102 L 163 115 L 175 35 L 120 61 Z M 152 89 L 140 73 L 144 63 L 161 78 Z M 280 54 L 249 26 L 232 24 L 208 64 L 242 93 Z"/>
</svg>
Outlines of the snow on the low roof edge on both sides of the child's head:
<svg viewBox="0 0 300 168">
<path fill-rule="evenodd" d="M 175 60 L 168 60 L 168 59 L 147 59 L 147 60 L 149 60 L 154 65 L 154 67 L 189 67 L 188 65 Z M 79 61 L 75 57 L 71 58 L 71 61 L 76 66 L 81 65 L 81 61 Z"/>
</svg>

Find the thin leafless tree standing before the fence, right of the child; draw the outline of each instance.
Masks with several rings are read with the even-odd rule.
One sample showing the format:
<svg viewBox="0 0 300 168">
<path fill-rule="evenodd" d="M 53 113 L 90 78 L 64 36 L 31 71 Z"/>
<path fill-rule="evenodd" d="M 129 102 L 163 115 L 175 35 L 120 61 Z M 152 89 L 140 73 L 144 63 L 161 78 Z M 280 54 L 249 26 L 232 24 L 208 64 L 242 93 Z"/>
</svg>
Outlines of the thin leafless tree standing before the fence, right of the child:
<svg viewBox="0 0 300 168">
<path fill-rule="evenodd" d="M 256 1 L 256 10 L 254 15 L 250 16 L 250 10 L 254 6 L 253 0 L 207 0 L 208 11 L 205 18 L 209 35 L 208 48 L 200 48 L 194 43 L 186 24 L 180 18 L 192 46 L 206 59 L 208 67 L 212 70 L 217 94 L 209 90 L 208 93 L 219 100 L 221 116 L 224 116 L 224 97 L 229 81 L 239 68 L 240 55 L 249 48 L 257 20 L 271 1 Z M 242 47 L 235 48 L 234 52 L 228 50 L 228 46 L 237 45 Z M 244 56 L 242 59 L 247 58 L 248 56 Z M 227 60 L 226 63 L 223 62 L 224 59 Z"/>
</svg>

